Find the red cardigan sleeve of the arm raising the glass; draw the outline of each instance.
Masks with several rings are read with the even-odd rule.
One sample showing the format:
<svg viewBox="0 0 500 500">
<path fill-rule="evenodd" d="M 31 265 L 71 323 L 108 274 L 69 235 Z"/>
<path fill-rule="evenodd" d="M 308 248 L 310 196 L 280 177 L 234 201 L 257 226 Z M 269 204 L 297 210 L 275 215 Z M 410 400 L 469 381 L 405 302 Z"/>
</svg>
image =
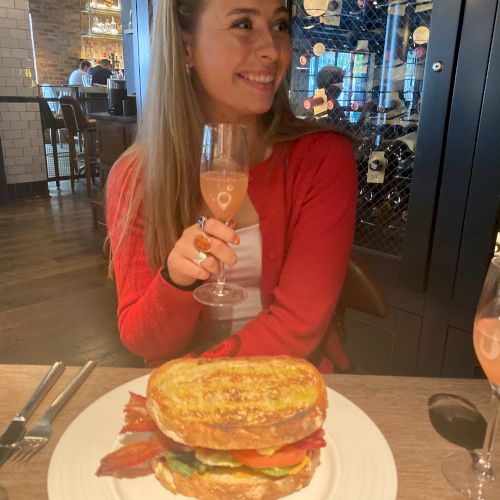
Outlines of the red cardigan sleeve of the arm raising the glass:
<svg viewBox="0 0 500 500">
<path fill-rule="evenodd" d="M 146 363 L 178 356 L 186 350 L 200 312 L 192 292 L 175 288 L 149 264 L 142 208 L 120 234 L 137 162 L 121 159 L 107 181 L 107 228 L 118 295 L 118 328 L 125 347 Z M 140 185 L 140 183 L 139 183 Z"/>
</svg>

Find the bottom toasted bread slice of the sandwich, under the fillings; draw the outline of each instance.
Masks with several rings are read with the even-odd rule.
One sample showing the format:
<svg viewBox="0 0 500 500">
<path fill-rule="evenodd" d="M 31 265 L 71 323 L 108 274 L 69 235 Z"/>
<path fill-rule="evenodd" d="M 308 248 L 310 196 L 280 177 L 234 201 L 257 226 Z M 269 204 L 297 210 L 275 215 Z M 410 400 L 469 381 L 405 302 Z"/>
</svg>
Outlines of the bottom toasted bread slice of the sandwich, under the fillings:
<svg viewBox="0 0 500 500">
<path fill-rule="evenodd" d="M 311 461 L 304 469 L 282 478 L 252 472 L 238 474 L 228 469 L 186 477 L 170 469 L 164 459 L 153 460 L 152 466 L 157 479 L 172 493 L 201 500 L 273 500 L 307 486 L 319 463 L 319 455 L 319 451 L 312 452 Z"/>
</svg>

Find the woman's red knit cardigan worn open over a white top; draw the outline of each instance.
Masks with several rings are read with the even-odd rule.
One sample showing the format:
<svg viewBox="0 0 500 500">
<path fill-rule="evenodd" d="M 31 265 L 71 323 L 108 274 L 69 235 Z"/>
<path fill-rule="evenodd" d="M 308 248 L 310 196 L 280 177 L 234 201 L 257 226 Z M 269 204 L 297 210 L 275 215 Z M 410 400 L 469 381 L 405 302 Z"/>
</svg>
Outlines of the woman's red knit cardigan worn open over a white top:
<svg viewBox="0 0 500 500">
<path fill-rule="evenodd" d="M 131 168 L 135 165 L 129 160 L 119 161 L 108 180 L 112 250 Z M 207 356 L 308 357 L 328 343 L 330 359 L 347 367 L 336 332 L 328 342 L 325 332 L 347 270 L 356 192 L 351 144 L 333 132 L 275 145 L 271 158 L 251 168 L 248 194 L 259 215 L 262 235 L 263 310 Z M 118 326 L 127 349 L 153 366 L 206 341 L 198 337 L 197 328 L 200 318 L 207 316 L 200 314 L 203 306 L 192 292 L 170 285 L 148 263 L 141 210 L 122 245 L 113 255 Z M 322 368 L 330 371 L 331 366 L 323 363 Z"/>
</svg>

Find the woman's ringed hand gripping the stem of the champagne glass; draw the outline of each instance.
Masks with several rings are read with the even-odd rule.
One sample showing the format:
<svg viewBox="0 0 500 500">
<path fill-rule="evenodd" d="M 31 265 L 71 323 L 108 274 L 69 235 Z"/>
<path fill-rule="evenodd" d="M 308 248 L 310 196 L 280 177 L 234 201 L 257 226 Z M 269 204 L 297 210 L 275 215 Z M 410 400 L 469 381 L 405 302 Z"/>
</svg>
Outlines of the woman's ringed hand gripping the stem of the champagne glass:
<svg viewBox="0 0 500 500">
<path fill-rule="evenodd" d="M 194 262 L 199 251 L 194 240 L 196 236 L 205 235 L 210 242 L 207 258 L 201 263 Z M 184 229 L 182 236 L 177 240 L 167 258 L 167 268 L 170 279 L 180 285 L 189 286 L 196 280 L 207 280 L 212 274 L 217 274 L 220 260 L 228 266 L 236 264 L 236 252 L 228 243 L 239 244 L 239 236 L 231 227 L 221 221 L 207 219 L 204 232 L 198 224 Z"/>
</svg>

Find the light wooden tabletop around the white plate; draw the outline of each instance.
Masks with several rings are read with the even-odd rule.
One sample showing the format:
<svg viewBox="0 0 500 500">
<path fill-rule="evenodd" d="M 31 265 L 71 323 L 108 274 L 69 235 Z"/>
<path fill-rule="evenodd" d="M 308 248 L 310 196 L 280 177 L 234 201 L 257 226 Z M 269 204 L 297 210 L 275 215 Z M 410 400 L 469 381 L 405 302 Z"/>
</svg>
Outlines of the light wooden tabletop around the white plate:
<svg viewBox="0 0 500 500">
<path fill-rule="evenodd" d="M 23 406 L 47 369 L 46 366 L 0 365 L 0 432 Z M 75 367 L 66 368 L 32 416 L 30 424 L 36 422 L 55 394 L 76 371 Z M 47 446 L 29 462 L 7 462 L 0 469 L 0 500 L 47 499 L 49 460 L 66 427 L 99 396 L 146 373 L 147 370 L 137 368 L 95 369 L 57 416 L 54 435 Z M 456 447 L 445 441 L 432 427 L 427 401 L 429 396 L 436 393 L 457 394 L 487 414 L 489 389 L 486 381 L 361 375 L 327 376 L 326 381 L 330 387 L 362 408 L 385 435 L 398 469 L 398 499 L 463 498 L 448 486 L 441 475 L 441 461 Z M 500 451 L 498 441 L 497 452 Z"/>
</svg>

